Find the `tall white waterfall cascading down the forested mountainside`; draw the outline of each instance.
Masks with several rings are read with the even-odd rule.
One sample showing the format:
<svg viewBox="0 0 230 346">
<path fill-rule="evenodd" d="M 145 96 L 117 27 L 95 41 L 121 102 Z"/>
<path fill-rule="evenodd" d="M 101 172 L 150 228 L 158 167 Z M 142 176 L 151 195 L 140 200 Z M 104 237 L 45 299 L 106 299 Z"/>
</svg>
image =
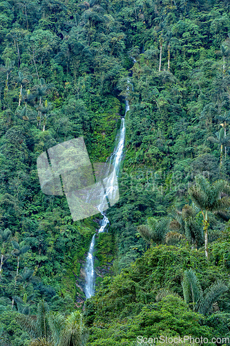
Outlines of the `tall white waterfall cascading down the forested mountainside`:
<svg viewBox="0 0 230 346">
<path fill-rule="evenodd" d="M 128 84 L 129 83 L 130 82 L 128 80 Z M 127 87 L 127 91 L 128 90 L 129 90 L 129 87 Z M 128 100 L 126 100 L 126 111 L 125 111 L 124 116 L 126 116 L 127 111 L 129 111 Z M 115 176 L 117 176 L 119 174 L 119 166 L 120 166 L 120 163 L 122 161 L 122 154 L 123 154 L 123 149 L 124 149 L 125 130 L 126 130 L 125 122 L 124 122 L 124 118 L 122 118 L 122 123 L 121 123 L 121 127 L 119 129 L 119 134 L 117 134 L 118 143 L 117 143 L 117 146 L 115 147 L 115 149 L 113 151 L 113 154 L 111 155 L 110 163 L 109 163 L 109 167 L 111 165 L 113 165 L 113 174 L 111 174 L 111 178 L 109 180 L 109 184 L 111 186 L 111 189 L 108 189 L 107 193 L 104 195 L 104 197 L 102 197 L 102 199 L 106 198 L 109 190 L 113 190 L 114 194 L 116 192 L 114 189 L 114 186 L 113 186 L 113 182 L 114 182 Z M 101 205 L 103 205 L 103 201 L 102 201 Z M 99 210 L 100 210 L 100 206 L 97 207 Z M 103 219 L 100 221 L 101 227 L 99 228 L 98 233 L 103 233 L 104 229 L 109 224 L 108 217 L 106 217 L 104 212 L 101 212 L 101 214 L 103 215 Z M 86 258 L 86 286 L 85 286 L 86 299 L 90 298 L 91 295 L 94 295 L 94 293 L 95 293 L 95 271 L 93 268 L 94 245 L 95 245 L 95 235 L 93 235 L 92 241 L 90 243 L 90 249 L 88 251 L 88 256 Z"/>
</svg>

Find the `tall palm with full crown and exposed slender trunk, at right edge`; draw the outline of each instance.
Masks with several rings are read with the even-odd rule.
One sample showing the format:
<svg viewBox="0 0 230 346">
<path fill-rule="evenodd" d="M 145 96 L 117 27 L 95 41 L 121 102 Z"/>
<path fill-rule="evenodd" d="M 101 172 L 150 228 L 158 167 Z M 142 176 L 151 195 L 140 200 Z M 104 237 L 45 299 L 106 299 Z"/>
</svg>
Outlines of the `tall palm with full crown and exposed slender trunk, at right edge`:
<svg viewBox="0 0 230 346">
<path fill-rule="evenodd" d="M 218 212 L 230 206 L 229 197 L 221 197 L 222 192 L 229 192 L 227 181 L 218 180 L 210 184 L 202 175 L 195 176 L 195 185 L 189 189 L 190 197 L 195 206 L 200 208 L 203 216 L 205 255 L 208 257 L 209 212 Z"/>
</svg>

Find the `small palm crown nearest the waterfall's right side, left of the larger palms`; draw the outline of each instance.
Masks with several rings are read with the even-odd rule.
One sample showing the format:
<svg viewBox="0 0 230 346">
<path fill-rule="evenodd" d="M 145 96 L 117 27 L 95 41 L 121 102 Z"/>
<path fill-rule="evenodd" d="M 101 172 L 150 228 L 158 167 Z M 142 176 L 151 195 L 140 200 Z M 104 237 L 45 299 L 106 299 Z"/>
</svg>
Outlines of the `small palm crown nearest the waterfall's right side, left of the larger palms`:
<svg viewBox="0 0 230 346">
<path fill-rule="evenodd" d="M 137 230 L 148 244 L 160 244 L 167 233 L 168 224 L 169 219 L 162 218 L 157 221 L 155 217 L 148 217 L 147 225 L 138 226 Z"/>
</svg>

